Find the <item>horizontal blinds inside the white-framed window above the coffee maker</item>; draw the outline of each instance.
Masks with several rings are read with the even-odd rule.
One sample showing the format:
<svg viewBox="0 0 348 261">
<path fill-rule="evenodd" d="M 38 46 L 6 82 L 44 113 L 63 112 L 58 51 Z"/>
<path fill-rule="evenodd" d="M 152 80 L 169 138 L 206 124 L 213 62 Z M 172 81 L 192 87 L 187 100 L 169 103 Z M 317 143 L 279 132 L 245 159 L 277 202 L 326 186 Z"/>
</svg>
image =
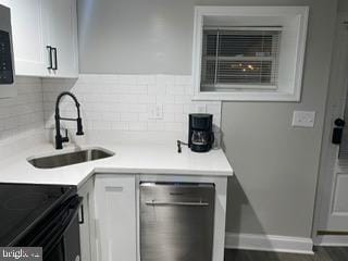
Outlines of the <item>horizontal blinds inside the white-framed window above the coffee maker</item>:
<svg viewBox="0 0 348 261">
<path fill-rule="evenodd" d="M 201 90 L 276 88 L 281 27 L 204 27 Z"/>
</svg>

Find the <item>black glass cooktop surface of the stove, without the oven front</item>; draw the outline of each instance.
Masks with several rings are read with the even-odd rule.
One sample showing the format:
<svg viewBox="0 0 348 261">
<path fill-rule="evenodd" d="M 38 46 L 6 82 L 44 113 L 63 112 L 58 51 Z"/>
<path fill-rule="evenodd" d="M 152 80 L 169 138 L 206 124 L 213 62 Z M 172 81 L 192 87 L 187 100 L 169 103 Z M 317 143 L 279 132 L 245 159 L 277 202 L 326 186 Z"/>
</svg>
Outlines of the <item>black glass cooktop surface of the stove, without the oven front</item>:
<svg viewBox="0 0 348 261">
<path fill-rule="evenodd" d="M 16 246 L 39 221 L 75 194 L 74 186 L 0 184 L 0 246 Z"/>
</svg>

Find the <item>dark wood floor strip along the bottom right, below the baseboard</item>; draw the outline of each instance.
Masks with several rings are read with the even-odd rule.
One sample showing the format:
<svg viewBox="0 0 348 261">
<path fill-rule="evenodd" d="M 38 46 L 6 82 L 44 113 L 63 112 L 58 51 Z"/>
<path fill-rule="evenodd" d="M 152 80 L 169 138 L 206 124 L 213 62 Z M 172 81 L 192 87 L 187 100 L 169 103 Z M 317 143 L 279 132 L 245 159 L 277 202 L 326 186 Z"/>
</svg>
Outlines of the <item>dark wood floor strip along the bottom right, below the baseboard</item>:
<svg viewBox="0 0 348 261">
<path fill-rule="evenodd" d="M 348 248 L 319 247 L 314 256 L 226 249 L 225 261 L 348 261 Z"/>
</svg>

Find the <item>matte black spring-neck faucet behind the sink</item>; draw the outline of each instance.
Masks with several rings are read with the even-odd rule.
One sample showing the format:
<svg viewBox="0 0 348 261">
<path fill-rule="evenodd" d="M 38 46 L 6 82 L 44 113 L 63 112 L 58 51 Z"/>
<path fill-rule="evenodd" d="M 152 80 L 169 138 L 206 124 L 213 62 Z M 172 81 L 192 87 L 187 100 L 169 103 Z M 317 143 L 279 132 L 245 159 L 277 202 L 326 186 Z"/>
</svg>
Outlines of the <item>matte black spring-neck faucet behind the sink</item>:
<svg viewBox="0 0 348 261">
<path fill-rule="evenodd" d="M 61 117 L 60 113 L 59 113 L 59 103 L 61 101 L 61 99 L 64 96 L 70 96 L 71 98 L 73 98 L 73 100 L 75 101 L 75 105 L 77 109 L 77 119 L 71 119 L 71 117 Z M 84 135 L 84 130 L 83 130 L 83 121 L 80 119 L 80 114 L 79 114 L 79 102 L 77 101 L 76 97 L 70 92 L 70 91 L 63 91 L 62 94 L 60 94 L 57 98 L 57 102 L 55 102 L 55 149 L 62 149 L 63 148 L 63 142 L 69 142 L 69 137 L 67 137 L 67 130 L 65 129 L 65 137 L 62 137 L 61 135 L 61 124 L 60 121 L 75 121 L 77 123 L 77 132 L 76 135 L 80 136 Z"/>
</svg>

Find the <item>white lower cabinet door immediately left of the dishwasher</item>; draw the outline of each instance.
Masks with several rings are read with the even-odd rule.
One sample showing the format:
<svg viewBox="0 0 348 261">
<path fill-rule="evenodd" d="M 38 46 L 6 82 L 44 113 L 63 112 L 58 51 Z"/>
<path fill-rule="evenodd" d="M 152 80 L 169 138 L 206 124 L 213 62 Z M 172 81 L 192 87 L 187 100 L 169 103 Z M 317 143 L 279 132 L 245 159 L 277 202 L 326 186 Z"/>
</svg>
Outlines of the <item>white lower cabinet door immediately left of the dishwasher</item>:
<svg viewBox="0 0 348 261">
<path fill-rule="evenodd" d="M 96 176 L 99 261 L 136 261 L 136 191 L 133 175 Z"/>
</svg>

